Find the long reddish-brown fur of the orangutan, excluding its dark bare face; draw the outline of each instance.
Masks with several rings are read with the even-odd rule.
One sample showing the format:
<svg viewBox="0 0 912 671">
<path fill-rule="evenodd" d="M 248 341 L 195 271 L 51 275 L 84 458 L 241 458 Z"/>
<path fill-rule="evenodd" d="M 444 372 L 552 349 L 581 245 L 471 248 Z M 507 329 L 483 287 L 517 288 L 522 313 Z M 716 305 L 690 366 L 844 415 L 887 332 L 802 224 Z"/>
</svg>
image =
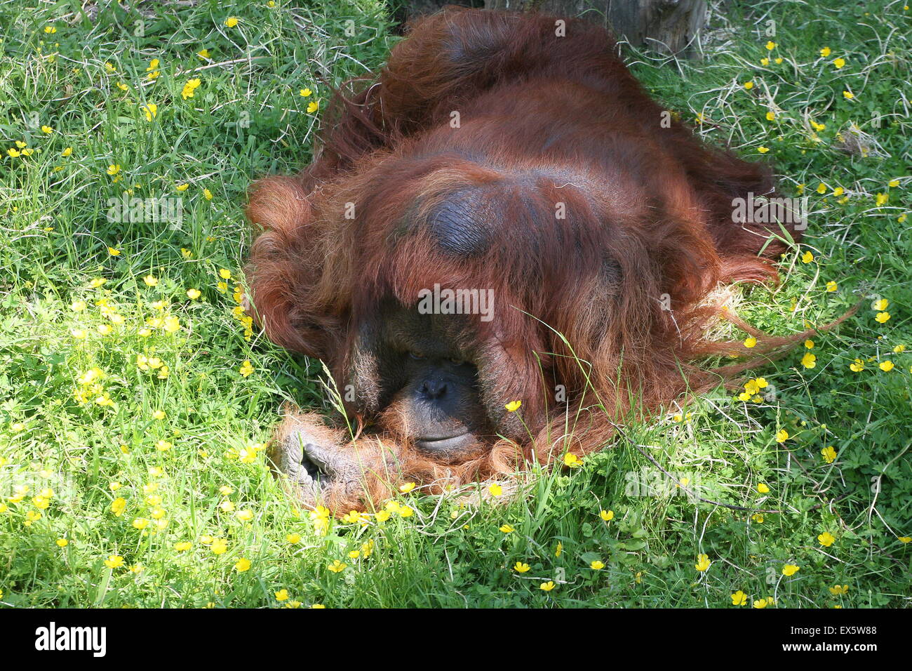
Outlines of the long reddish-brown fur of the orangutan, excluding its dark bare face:
<svg viewBox="0 0 912 671">
<path fill-rule="evenodd" d="M 606 445 L 613 423 L 752 363 L 708 371 L 695 360 L 756 357 L 805 336 L 758 334 L 753 350 L 705 339 L 710 321 L 725 315 L 705 304 L 713 288 L 775 278 L 764 257 L 785 248 L 774 237 L 782 228 L 731 218 L 732 198 L 772 194 L 770 173 L 704 145 L 677 121 L 663 128 L 663 110 L 601 28 L 571 20 L 566 37 L 555 37 L 554 21 L 459 9 L 421 19 L 377 83 L 351 100 L 336 97 L 322 155 L 295 177 L 251 189 L 248 215 L 262 232 L 249 278 L 273 341 L 323 358 L 341 381 L 358 323 L 379 299 L 411 305 L 435 283 L 492 288 L 495 318 L 473 322 L 488 343 L 480 374 L 496 372 L 492 398 L 523 401 L 534 436 L 443 465 L 410 448 L 390 409 L 375 437 L 352 445 L 337 435 L 339 449 L 358 450 L 370 465 L 366 494 L 330 493 L 333 508 L 384 498 L 397 479 L 459 483 L 568 449 L 585 455 Z M 451 128 L 453 110 L 460 128 Z M 498 213 L 494 243 L 476 257 L 448 256 L 422 223 L 465 187 L 487 194 Z M 554 220 L 557 202 L 565 220 Z M 349 203 L 354 219 L 345 217 Z M 617 264 L 614 279 L 606 258 Z M 662 309 L 663 294 L 671 310 Z M 553 383 L 571 399 L 557 414 Z M 394 458 L 381 458 L 380 446 Z"/>
</svg>

